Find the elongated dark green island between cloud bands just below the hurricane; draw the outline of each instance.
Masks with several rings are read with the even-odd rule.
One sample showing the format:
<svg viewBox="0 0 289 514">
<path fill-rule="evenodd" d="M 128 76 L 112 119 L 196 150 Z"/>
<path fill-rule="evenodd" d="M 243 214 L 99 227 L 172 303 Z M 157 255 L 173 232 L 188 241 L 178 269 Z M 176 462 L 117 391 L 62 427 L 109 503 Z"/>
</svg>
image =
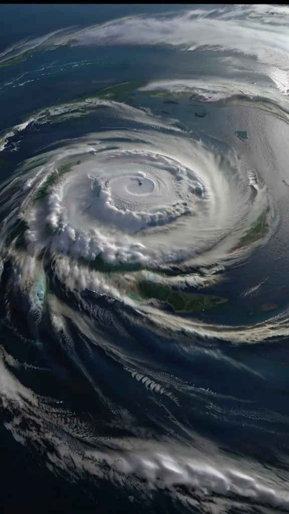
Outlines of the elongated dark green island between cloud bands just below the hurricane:
<svg viewBox="0 0 289 514">
<path fill-rule="evenodd" d="M 218 296 L 203 295 L 201 293 L 188 293 L 172 290 L 168 286 L 154 282 L 142 281 L 132 297 L 140 297 L 143 300 L 157 300 L 169 304 L 175 312 L 195 313 L 201 310 L 213 309 L 217 305 L 228 300 Z"/>
</svg>

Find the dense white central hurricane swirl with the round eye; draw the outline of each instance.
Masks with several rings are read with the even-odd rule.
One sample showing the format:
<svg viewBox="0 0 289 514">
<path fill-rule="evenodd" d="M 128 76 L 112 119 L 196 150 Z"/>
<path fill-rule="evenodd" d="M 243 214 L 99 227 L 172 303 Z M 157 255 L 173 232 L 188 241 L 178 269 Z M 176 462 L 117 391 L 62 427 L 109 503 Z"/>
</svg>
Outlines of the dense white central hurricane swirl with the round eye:
<svg viewBox="0 0 289 514">
<path fill-rule="evenodd" d="M 137 120 L 132 108 L 110 108 Z M 43 156 L 40 174 L 33 170 L 43 195 L 34 186 L 36 200 L 22 210 L 30 252 L 51 244 L 75 258 L 161 267 L 200 255 L 214 262 L 238 246 L 269 206 L 266 189 L 251 186 L 233 151 L 220 156 L 170 126 L 155 132 L 152 116 L 145 122 L 146 130 L 96 133 Z"/>
</svg>

